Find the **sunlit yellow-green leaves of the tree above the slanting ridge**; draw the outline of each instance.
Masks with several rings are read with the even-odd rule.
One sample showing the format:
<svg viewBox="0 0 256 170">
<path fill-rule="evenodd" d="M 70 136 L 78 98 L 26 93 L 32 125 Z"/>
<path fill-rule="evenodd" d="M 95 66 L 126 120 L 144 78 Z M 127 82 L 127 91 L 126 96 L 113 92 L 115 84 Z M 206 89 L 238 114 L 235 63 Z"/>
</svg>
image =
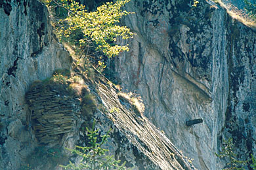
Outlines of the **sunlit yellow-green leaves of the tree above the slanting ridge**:
<svg viewBox="0 0 256 170">
<path fill-rule="evenodd" d="M 131 0 L 118 0 L 116 3 L 108 2 L 97 8 L 96 11 L 87 12 L 84 5 L 74 0 L 52 1 L 63 7 L 68 12 L 66 18 L 60 19 L 58 34 L 66 37 L 74 32 L 82 32 L 83 37 L 79 39 L 80 47 L 87 47 L 88 43 L 96 43 L 96 51 L 102 51 L 106 56 L 117 56 L 121 51 L 128 51 L 127 45 L 116 45 L 116 37 L 129 39 L 133 37 L 126 26 L 119 26 L 121 16 L 131 14 L 122 11 L 121 7 Z"/>
</svg>

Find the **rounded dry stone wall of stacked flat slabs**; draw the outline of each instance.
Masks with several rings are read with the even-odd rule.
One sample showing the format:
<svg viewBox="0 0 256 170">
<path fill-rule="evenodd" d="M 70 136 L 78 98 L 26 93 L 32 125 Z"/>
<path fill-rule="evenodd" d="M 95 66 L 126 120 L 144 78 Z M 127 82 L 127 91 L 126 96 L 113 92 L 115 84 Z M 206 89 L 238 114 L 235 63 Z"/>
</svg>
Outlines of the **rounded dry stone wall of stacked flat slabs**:
<svg viewBox="0 0 256 170">
<path fill-rule="evenodd" d="M 66 96 L 56 85 L 55 89 L 37 85 L 26 93 L 30 106 L 28 127 L 32 125 L 39 143 L 58 144 L 64 134 L 75 131 L 76 121 L 81 117 L 80 100 Z"/>
</svg>

